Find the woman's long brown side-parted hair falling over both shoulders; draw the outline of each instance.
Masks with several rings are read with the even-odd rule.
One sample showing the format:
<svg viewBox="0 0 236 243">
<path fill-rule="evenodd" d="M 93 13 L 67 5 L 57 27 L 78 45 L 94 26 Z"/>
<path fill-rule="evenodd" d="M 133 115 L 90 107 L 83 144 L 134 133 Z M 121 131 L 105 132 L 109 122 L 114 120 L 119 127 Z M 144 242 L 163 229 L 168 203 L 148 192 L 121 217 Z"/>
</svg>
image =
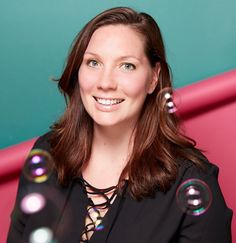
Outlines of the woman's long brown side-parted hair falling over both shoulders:
<svg viewBox="0 0 236 243">
<path fill-rule="evenodd" d="M 150 15 L 127 7 L 112 8 L 89 21 L 78 34 L 58 80 L 67 107 L 52 127 L 51 152 L 62 185 L 79 176 L 90 159 L 93 121 L 81 101 L 78 71 L 93 33 L 107 25 L 126 25 L 143 35 L 151 66 L 160 65 L 158 84 L 146 97 L 135 128 L 133 151 L 118 184 L 121 187 L 128 174 L 131 194 L 141 199 L 152 196 L 157 188 L 167 191 L 181 160 L 200 164 L 194 141 L 180 133 L 176 115 L 168 112 L 165 94 L 172 93 L 171 75 L 160 29 Z"/>
</svg>

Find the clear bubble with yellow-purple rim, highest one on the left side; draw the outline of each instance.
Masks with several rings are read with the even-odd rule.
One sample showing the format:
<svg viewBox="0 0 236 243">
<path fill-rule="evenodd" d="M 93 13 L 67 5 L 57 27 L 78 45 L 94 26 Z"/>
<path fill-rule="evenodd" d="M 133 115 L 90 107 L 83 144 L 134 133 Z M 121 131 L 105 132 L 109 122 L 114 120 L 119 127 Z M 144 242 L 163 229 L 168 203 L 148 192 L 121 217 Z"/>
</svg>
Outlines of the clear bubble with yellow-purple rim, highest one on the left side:
<svg viewBox="0 0 236 243">
<path fill-rule="evenodd" d="M 30 181 L 41 183 L 46 181 L 52 173 L 53 159 L 51 155 L 41 149 L 34 149 L 26 159 L 23 173 Z"/>
</svg>

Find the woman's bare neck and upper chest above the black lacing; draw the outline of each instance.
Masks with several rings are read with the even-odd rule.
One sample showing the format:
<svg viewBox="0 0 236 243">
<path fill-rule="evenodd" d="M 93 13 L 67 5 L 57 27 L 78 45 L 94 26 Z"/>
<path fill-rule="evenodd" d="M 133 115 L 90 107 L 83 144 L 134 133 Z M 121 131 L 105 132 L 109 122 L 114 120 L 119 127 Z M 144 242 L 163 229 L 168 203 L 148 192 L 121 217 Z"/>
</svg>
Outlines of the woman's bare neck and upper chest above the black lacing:
<svg viewBox="0 0 236 243">
<path fill-rule="evenodd" d="M 114 129 L 94 125 L 91 157 L 84 178 L 98 188 L 116 185 L 133 145 L 133 128 Z"/>
</svg>

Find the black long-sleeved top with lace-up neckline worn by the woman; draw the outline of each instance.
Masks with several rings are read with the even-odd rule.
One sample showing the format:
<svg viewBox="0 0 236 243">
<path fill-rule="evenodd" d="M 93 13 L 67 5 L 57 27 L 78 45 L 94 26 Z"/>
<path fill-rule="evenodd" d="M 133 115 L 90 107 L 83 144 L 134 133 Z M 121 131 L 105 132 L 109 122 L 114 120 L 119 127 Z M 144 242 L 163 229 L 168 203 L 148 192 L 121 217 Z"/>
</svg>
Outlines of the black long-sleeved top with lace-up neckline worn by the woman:
<svg viewBox="0 0 236 243">
<path fill-rule="evenodd" d="M 49 150 L 47 139 L 48 135 L 40 137 L 34 148 Z M 95 231 L 89 243 L 230 243 L 232 210 L 222 196 L 218 168 L 203 160 L 206 172 L 183 161 L 171 188 L 166 193 L 157 190 L 154 198 L 134 200 L 127 182 L 104 216 L 103 229 Z M 184 213 L 176 202 L 178 186 L 191 178 L 204 181 L 212 192 L 209 209 L 199 216 Z M 19 204 L 30 192 L 40 192 L 47 203 L 39 212 L 27 215 L 19 210 Z M 88 200 L 78 178 L 63 188 L 56 175 L 44 183 L 30 182 L 21 175 L 7 242 L 28 242 L 33 230 L 48 227 L 57 243 L 79 243 Z"/>
</svg>

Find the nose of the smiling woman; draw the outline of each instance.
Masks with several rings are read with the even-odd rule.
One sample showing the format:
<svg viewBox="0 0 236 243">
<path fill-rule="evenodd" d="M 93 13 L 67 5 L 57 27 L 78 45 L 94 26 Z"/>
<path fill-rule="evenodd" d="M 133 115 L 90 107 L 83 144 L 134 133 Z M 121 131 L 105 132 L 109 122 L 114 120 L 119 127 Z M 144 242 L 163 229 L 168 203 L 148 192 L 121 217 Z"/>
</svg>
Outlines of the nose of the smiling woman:
<svg viewBox="0 0 236 243">
<path fill-rule="evenodd" d="M 114 90 L 117 88 L 116 78 L 112 70 L 103 70 L 101 72 L 98 77 L 97 87 L 103 90 Z"/>
</svg>

